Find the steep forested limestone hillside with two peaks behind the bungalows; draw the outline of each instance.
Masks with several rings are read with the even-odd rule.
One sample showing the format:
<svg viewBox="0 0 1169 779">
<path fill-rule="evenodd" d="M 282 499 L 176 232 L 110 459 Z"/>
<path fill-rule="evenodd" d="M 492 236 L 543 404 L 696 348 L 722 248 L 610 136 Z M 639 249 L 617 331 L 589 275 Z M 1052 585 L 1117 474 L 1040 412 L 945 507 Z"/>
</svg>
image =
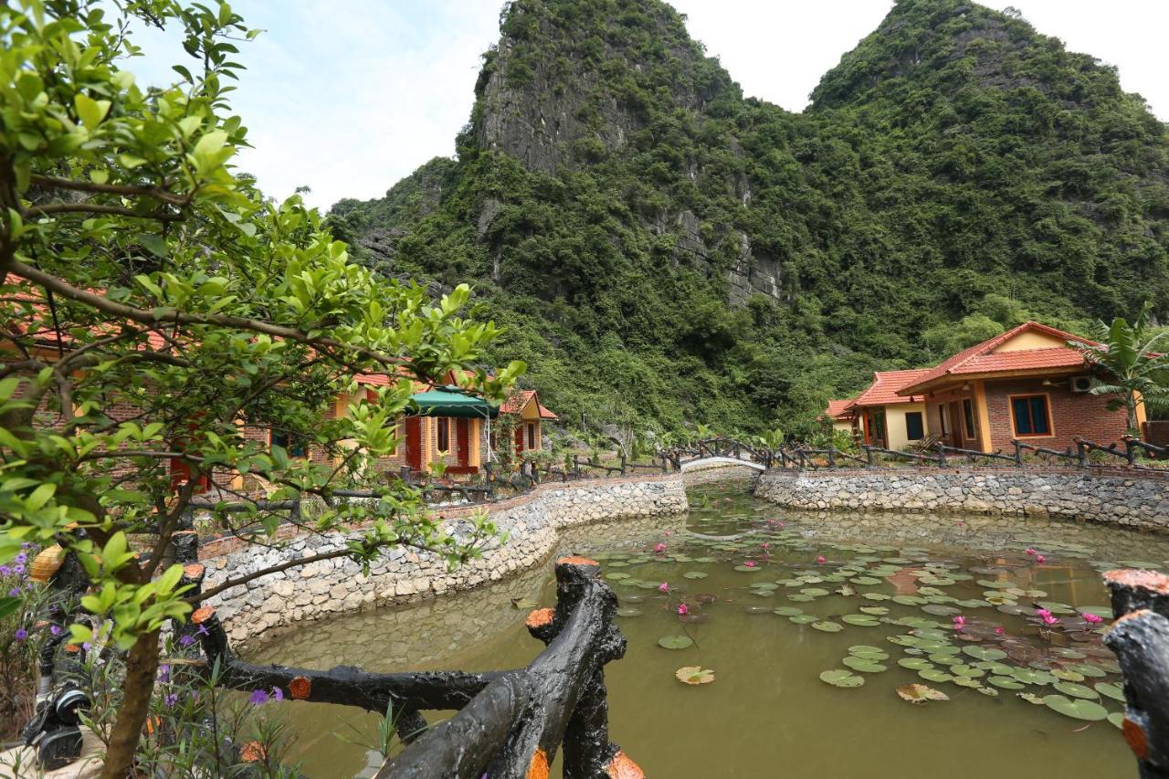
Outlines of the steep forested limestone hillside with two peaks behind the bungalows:
<svg viewBox="0 0 1169 779">
<path fill-rule="evenodd" d="M 569 419 L 790 429 L 1026 317 L 1169 310 L 1165 125 L 1014 15 L 901 0 L 802 113 L 656 0 L 516 0 L 457 161 L 331 223 L 473 281 Z"/>
</svg>

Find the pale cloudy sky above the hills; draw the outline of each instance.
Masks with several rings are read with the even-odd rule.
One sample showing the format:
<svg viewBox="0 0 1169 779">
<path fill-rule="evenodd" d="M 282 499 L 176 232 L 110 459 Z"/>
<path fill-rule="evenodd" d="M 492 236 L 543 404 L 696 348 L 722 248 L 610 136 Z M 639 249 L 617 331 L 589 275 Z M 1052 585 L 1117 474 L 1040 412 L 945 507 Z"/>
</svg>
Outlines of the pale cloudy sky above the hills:
<svg viewBox="0 0 1169 779">
<path fill-rule="evenodd" d="M 502 0 L 236 0 L 264 33 L 242 46 L 233 94 L 255 149 L 240 156 L 267 194 L 307 186 L 310 205 L 380 198 L 433 157 L 455 153 L 482 54 L 499 37 Z M 819 77 L 880 23 L 891 0 L 673 0 L 748 96 L 802 110 Z M 1004 8 L 998 0 L 985 2 Z M 1169 119 L 1165 0 L 1014 0 L 1036 29 L 1120 69 Z M 178 39 L 136 39 L 130 66 L 171 81 Z"/>
</svg>

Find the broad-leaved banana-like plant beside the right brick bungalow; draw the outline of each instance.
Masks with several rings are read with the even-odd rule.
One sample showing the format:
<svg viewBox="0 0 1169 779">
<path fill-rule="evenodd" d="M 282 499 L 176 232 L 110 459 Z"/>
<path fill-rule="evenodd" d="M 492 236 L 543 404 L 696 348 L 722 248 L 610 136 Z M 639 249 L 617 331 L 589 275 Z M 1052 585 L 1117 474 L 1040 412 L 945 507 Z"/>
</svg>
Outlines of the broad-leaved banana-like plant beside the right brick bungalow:
<svg viewBox="0 0 1169 779">
<path fill-rule="evenodd" d="M 1133 434 L 1137 433 L 1136 411 L 1142 404 L 1146 408 L 1169 407 L 1169 353 L 1155 350 L 1169 331 L 1154 332 L 1150 310 L 1146 303 L 1132 324 L 1122 317 L 1113 319 L 1111 326 L 1101 323 L 1099 344 L 1070 342 L 1102 372 L 1090 392 L 1119 395 L 1108 408 L 1125 408 Z"/>
</svg>

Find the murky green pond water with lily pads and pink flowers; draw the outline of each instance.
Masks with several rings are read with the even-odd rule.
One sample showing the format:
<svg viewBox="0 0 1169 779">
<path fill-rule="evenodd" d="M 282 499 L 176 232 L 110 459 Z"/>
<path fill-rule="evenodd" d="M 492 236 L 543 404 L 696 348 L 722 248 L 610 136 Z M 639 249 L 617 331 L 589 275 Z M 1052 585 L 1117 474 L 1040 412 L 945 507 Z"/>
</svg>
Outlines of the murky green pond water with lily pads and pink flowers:
<svg viewBox="0 0 1169 779">
<path fill-rule="evenodd" d="M 629 650 L 607 667 L 611 737 L 648 775 L 1136 775 L 1115 726 L 1120 680 L 1101 642 L 1100 572 L 1163 570 L 1169 539 L 1017 517 L 801 513 L 741 490 L 690 499 L 689 516 L 592 525 L 561 550 L 600 560 L 621 598 Z M 452 598 L 310 623 L 251 659 L 517 668 L 542 644 L 524 628 L 528 605 L 513 601 L 554 599 L 549 564 Z M 1040 626 L 1036 604 L 1059 622 Z M 714 681 L 676 678 L 694 666 Z M 897 688 L 909 683 L 948 699 L 907 703 Z M 371 775 L 380 763 L 361 745 L 374 740 L 375 716 L 268 705 L 288 718 L 290 757 L 307 775 Z"/>
</svg>

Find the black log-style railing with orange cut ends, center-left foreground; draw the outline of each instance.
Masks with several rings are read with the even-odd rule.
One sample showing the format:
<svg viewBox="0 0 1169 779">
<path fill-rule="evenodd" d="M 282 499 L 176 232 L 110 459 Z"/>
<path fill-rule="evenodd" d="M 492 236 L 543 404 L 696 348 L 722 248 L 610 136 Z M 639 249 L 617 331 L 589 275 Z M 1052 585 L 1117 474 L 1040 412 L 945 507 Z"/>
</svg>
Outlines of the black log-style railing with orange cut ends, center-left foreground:
<svg viewBox="0 0 1169 779">
<path fill-rule="evenodd" d="M 565 779 L 643 775 L 609 740 L 606 663 L 625 654 L 614 623 L 617 597 L 601 566 L 580 557 L 556 561 L 556 606 L 527 616 L 528 632 L 547 644 L 530 666 L 492 673 L 372 674 L 340 667 L 328 671 L 257 666 L 240 660 L 215 611 L 200 607 L 180 633 L 196 636 L 219 684 L 242 691 L 278 688 L 286 699 L 395 712 L 406 749 L 378 772 L 380 779 L 507 779 L 547 777 L 563 749 Z M 205 568 L 185 567 L 194 590 Z M 459 710 L 426 729 L 422 711 Z"/>
</svg>

